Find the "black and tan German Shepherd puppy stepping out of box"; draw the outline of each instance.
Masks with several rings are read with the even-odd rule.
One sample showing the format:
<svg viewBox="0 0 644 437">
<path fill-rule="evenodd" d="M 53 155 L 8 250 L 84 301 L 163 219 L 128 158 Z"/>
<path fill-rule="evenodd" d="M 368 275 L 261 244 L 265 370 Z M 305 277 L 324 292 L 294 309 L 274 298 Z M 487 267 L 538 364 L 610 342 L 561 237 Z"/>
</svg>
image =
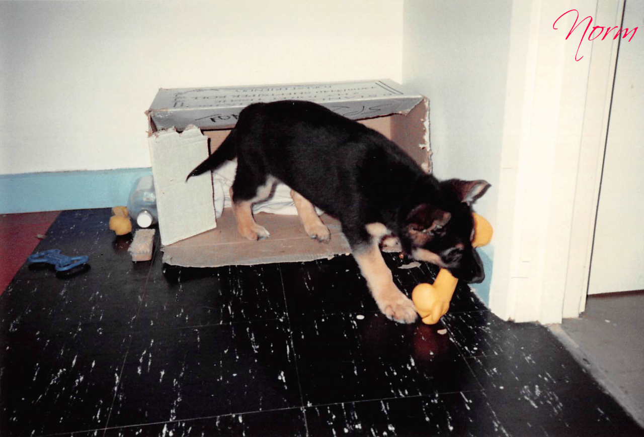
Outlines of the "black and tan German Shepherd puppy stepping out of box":
<svg viewBox="0 0 644 437">
<path fill-rule="evenodd" d="M 316 103 L 254 103 L 240 113 L 222 145 L 187 178 L 237 157 L 232 211 L 241 235 L 268 238 L 251 206 L 267 199 L 279 180 L 292 188 L 299 218 L 311 238 L 330 233 L 314 205 L 336 217 L 369 290 L 385 316 L 416 319 L 413 303 L 393 283 L 379 249 L 397 236 L 405 254 L 480 282 L 483 266 L 471 246 L 471 204 L 486 181 L 439 182 L 383 135 Z M 187 179 L 186 179 L 187 180 Z"/>
</svg>

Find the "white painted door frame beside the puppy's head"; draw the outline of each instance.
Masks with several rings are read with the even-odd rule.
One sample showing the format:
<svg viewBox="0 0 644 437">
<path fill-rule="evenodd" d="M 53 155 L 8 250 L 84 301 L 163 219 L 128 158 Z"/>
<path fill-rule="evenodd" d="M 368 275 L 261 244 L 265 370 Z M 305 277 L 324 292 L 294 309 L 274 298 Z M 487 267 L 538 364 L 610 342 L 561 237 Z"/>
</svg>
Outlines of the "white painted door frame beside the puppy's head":
<svg viewBox="0 0 644 437">
<path fill-rule="evenodd" d="M 489 301 L 503 319 L 560 323 L 585 308 L 618 42 L 579 46 L 585 23 L 569 39 L 571 19 L 553 24 L 576 9 L 619 26 L 623 7 L 513 0 Z"/>
</svg>

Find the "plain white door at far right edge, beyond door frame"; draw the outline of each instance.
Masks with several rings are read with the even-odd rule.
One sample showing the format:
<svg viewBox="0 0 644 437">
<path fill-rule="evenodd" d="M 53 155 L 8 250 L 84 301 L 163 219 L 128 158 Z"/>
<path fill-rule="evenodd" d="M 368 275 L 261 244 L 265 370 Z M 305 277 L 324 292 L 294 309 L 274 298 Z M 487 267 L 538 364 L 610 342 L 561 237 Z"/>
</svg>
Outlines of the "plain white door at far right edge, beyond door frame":
<svg viewBox="0 0 644 437">
<path fill-rule="evenodd" d="M 627 0 L 623 27 L 636 26 L 620 41 L 589 294 L 644 289 L 644 1 Z"/>
</svg>

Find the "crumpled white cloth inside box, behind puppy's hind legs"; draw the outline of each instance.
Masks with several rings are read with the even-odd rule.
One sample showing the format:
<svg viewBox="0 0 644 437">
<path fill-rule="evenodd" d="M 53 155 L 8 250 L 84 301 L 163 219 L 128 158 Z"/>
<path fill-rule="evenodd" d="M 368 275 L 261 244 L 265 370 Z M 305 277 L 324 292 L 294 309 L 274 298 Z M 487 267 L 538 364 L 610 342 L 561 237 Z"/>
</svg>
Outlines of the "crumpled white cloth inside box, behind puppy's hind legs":
<svg viewBox="0 0 644 437">
<path fill-rule="evenodd" d="M 236 161 L 226 161 L 213 172 L 213 192 L 214 192 L 214 210 L 216 218 L 221 217 L 223 208 L 230 208 L 231 194 L 230 188 L 232 181 L 235 179 L 237 171 Z M 322 214 L 319 208 L 316 208 L 317 214 Z M 293 199 L 290 197 L 289 186 L 278 181 L 274 193 L 270 199 L 258 202 L 252 206 L 253 213 L 265 212 L 282 215 L 298 215 Z"/>
</svg>

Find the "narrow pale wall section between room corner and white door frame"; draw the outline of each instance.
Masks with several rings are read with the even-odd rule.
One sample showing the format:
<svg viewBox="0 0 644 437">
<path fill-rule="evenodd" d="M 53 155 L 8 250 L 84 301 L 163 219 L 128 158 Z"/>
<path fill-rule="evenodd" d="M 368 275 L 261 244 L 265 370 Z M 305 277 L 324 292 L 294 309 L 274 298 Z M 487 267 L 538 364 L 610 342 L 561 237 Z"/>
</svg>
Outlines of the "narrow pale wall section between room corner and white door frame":
<svg viewBox="0 0 644 437">
<path fill-rule="evenodd" d="M 495 223 L 512 3 L 406 0 L 403 81 L 430 99 L 433 172 L 486 179 Z"/>
</svg>

